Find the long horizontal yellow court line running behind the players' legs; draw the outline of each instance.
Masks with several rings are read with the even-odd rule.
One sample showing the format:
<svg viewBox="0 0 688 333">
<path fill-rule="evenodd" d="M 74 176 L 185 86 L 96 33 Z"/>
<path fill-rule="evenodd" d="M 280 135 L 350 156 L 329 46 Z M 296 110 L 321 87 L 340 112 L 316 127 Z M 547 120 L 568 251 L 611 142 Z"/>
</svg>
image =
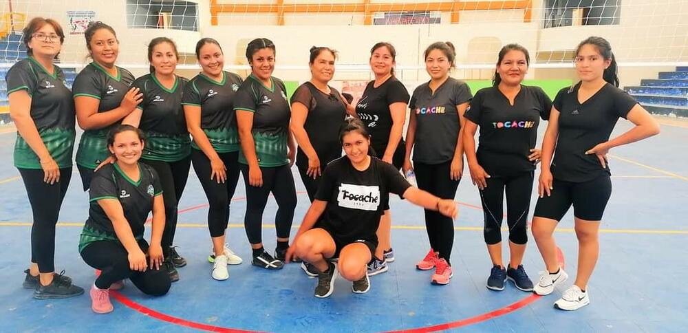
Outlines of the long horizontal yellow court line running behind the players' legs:
<svg viewBox="0 0 688 333">
<path fill-rule="evenodd" d="M 0 222 L 0 226 L 31 226 L 30 222 Z M 77 226 L 83 227 L 83 223 L 76 222 L 59 222 L 57 226 Z M 181 228 L 208 228 L 208 224 L 203 223 L 180 223 L 177 224 Z M 275 228 L 275 224 L 263 224 L 264 228 Z M 292 228 L 299 228 L 299 225 L 294 225 Z M 228 224 L 228 228 L 244 228 L 244 224 Z M 425 230 L 424 226 L 391 226 L 392 229 L 400 230 Z M 482 226 L 455 226 L 454 230 L 459 231 L 482 231 Z M 507 231 L 507 228 L 502 228 L 502 231 Z M 575 233 L 573 228 L 557 228 L 560 233 Z M 688 235 L 688 230 L 652 230 L 652 229 L 600 229 L 600 233 L 615 233 L 615 234 L 636 234 L 636 235 Z"/>
</svg>

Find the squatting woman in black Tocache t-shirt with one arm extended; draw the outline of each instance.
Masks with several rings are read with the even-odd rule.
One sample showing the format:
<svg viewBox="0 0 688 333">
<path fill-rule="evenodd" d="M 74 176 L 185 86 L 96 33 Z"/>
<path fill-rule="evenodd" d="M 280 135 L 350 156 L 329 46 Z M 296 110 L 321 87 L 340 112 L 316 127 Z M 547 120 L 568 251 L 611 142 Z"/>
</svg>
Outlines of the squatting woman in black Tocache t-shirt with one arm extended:
<svg viewBox="0 0 688 333">
<path fill-rule="evenodd" d="M 370 136 L 361 120 L 347 120 L 339 133 L 346 157 L 327 164 L 315 200 L 286 255 L 287 261 L 299 257 L 318 268 L 315 297 L 320 298 L 332 294 L 337 273 L 354 282 L 353 292 L 370 289 L 367 264 L 378 245 L 376 230 L 389 193 L 443 215 L 458 214 L 453 200 L 411 186 L 394 166 L 368 155 Z M 329 260 L 337 257 L 338 270 Z"/>
</svg>

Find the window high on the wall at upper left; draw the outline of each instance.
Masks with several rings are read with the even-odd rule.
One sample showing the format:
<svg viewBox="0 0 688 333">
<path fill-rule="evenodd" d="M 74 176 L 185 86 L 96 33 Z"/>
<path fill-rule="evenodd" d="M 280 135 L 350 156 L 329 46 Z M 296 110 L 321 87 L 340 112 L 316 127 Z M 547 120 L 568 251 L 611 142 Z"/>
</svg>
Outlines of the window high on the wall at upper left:
<svg viewBox="0 0 688 333">
<path fill-rule="evenodd" d="M 198 4 L 177 0 L 127 0 L 127 27 L 198 31 Z"/>
</svg>

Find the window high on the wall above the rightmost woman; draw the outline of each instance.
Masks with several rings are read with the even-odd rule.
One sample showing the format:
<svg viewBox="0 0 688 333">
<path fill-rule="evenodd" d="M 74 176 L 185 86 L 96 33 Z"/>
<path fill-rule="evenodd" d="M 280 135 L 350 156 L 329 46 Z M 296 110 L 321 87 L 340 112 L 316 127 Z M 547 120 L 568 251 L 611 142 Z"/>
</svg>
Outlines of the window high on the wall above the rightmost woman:
<svg viewBox="0 0 688 333">
<path fill-rule="evenodd" d="M 544 5 L 544 28 L 614 25 L 621 17 L 621 0 L 544 0 Z"/>
</svg>

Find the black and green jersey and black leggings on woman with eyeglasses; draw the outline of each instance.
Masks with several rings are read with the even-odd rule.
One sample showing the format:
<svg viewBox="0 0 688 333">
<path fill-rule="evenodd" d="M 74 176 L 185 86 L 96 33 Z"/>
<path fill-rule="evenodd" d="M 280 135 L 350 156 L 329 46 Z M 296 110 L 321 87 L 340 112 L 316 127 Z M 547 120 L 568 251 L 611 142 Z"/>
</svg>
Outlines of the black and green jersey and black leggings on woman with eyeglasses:
<svg viewBox="0 0 688 333">
<path fill-rule="evenodd" d="M 56 65 L 50 74 L 32 56 L 12 65 L 5 78 L 7 95 L 25 91 L 31 97 L 30 116 L 45 148 L 60 169 L 55 184 L 43 181 L 39 156 L 17 132 L 14 167 L 17 167 L 33 211 L 31 261 L 41 272 L 54 272 L 55 225 L 72 178 L 74 150 L 74 99 L 65 74 Z"/>
</svg>

